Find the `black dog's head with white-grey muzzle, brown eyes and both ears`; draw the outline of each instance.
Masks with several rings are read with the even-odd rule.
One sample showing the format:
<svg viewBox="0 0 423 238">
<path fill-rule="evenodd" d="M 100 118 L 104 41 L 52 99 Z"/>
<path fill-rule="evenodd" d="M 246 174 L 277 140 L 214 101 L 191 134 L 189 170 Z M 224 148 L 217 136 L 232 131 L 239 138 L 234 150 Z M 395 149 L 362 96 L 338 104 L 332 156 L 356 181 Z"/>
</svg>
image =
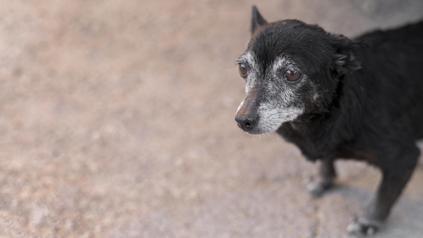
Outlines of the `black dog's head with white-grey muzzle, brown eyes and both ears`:
<svg viewBox="0 0 423 238">
<path fill-rule="evenodd" d="M 250 134 L 324 111 L 341 75 L 360 69 L 367 45 L 298 20 L 267 23 L 254 6 L 251 32 L 247 50 L 237 59 L 247 96 L 235 117 Z"/>
</svg>

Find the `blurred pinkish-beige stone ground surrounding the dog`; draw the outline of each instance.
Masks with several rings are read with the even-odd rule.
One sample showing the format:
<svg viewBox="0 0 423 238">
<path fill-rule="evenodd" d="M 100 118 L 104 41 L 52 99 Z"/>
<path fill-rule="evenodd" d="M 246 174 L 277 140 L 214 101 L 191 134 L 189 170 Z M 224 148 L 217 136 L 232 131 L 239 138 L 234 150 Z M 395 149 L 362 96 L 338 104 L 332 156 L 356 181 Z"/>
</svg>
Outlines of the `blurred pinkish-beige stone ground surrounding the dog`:
<svg viewBox="0 0 423 238">
<path fill-rule="evenodd" d="M 234 122 L 251 6 L 353 37 L 421 0 L 1 0 L 0 237 L 342 238 L 380 179 Z M 377 237 L 421 237 L 423 165 Z"/>
</svg>

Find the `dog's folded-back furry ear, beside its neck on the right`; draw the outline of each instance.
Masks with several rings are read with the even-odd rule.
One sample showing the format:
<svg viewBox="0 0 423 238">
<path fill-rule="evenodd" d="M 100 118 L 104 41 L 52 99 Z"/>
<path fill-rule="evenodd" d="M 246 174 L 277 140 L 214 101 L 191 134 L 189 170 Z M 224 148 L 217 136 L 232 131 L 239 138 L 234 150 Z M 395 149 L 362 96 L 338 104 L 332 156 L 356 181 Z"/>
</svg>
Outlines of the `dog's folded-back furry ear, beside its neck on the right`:
<svg viewBox="0 0 423 238">
<path fill-rule="evenodd" d="M 371 47 L 370 42 L 351 40 L 343 35 L 333 36 L 335 41 L 335 67 L 340 73 L 349 73 L 361 68 L 365 51 Z"/>
</svg>

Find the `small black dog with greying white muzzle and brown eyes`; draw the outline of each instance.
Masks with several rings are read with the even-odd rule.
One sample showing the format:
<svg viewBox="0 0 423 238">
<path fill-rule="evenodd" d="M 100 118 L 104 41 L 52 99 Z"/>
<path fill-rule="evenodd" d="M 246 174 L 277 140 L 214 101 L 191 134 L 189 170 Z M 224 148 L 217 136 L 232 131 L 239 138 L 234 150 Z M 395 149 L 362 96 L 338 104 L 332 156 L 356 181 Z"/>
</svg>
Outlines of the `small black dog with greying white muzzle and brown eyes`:
<svg viewBox="0 0 423 238">
<path fill-rule="evenodd" d="M 349 225 L 376 232 L 407 184 L 423 138 L 423 22 L 357 39 L 298 20 L 267 23 L 253 7 L 252 37 L 238 58 L 247 96 L 235 120 L 247 133 L 276 131 L 310 160 L 321 160 L 319 196 L 335 178 L 333 162 L 377 166 L 382 183 Z"/>
</svg>

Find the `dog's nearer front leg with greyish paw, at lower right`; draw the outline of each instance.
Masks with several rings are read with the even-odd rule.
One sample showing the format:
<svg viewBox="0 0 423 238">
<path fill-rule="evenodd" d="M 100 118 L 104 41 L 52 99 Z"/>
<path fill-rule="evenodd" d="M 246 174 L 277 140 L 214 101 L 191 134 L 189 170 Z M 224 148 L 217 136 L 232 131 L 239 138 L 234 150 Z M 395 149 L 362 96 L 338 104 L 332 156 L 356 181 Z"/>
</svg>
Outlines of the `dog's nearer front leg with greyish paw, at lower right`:
<svg viewBox="0 0 423 238">
<path fill-rule="evenodd" d="M 417 164 L 420 151 L 413 146 L 403 150 L 406 154 L 402 158 L 383 161 L 382 183 L 363 216 L 349 224 L 347 230 L 352 235 L 373 235 L 385 221 Z"/>
</svg>

